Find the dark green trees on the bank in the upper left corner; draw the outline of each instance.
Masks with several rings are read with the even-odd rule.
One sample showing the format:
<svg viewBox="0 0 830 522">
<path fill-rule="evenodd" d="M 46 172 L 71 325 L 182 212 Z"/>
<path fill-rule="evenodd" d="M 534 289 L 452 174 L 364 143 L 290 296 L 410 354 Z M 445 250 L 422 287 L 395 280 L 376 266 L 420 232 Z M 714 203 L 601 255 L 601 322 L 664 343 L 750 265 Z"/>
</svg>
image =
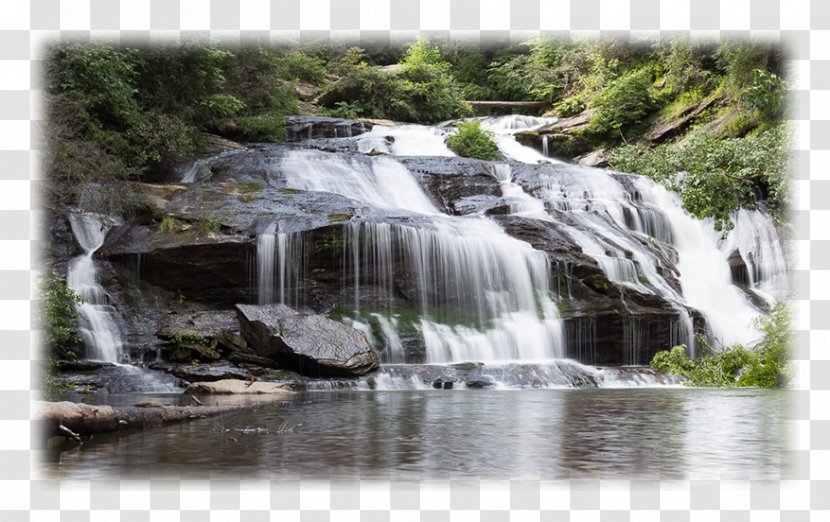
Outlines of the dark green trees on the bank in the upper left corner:
<svg viewBox="0 0 830 522">
<path fill-rule="evenodd" d="M 281 140 L 297 110 L 286 80 L 323 80 L 316 57 L 209 45 L 60 45 L 46 70 L 48 190 L 63 201 L 88 183 L 140 179 L 181 161 L 199 132 Z"/>
</svg>

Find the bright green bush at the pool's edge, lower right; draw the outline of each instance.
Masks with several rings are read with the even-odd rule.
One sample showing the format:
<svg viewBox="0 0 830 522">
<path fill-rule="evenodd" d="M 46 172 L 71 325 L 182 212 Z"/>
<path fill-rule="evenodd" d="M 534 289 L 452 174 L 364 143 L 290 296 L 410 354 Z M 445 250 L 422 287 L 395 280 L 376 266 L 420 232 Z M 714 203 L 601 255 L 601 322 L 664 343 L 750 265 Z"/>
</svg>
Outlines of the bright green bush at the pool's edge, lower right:
<svg viewBox="0 0 830 522">
<path fill-rule="evenodd" d="M 752 350 L 741 345 L 727 346 L 720 353 L 690 359 L 685 346 L 675 346 L 656 353 L 651 367 L 684 377 L 688 379 L 686 384 L 692 386 L 784 386 L 789 372 L 789 311 L 783 303 L 777 303 L 769 315 L 758 318 L 756 326 L 763 337 Z"/>
</svg>

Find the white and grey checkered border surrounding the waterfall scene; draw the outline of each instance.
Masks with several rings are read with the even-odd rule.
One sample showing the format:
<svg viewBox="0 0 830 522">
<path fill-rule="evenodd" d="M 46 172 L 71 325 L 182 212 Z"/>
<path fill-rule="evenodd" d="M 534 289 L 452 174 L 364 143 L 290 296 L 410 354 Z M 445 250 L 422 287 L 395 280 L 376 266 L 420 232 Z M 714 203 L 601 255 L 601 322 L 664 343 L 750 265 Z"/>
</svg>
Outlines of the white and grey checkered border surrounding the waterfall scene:
<svg viewBox="0 0 830 522">
<path fill-rule="evenodd" d="M 29 401 L 37 261 L 43 44 L 57 40 L 362 44 L 533 35 L 748 38 L 789 51 L 795 131 L 797 383 L 785 480 L 72 481 L 38 477 Z M 830 1 L 0 1 L 0 519 L 62 522 L 830 520 Z M 812 510 L 812 511 L 811 511 Z"/>
</svg>

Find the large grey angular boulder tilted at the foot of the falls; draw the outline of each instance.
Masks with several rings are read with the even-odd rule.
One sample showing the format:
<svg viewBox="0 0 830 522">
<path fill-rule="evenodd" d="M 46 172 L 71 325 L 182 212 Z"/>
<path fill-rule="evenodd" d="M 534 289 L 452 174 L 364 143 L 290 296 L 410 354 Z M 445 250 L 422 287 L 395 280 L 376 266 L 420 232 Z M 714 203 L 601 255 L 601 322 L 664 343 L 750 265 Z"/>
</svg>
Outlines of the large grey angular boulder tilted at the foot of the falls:
<svg viewBox="0 0 830 522">
<path fill-rule="evenodd" d="M 345 324 L 284 305 L 240 304 L 236 310 L 242 336 L 257 354 L 303 375 L 351 377 L 379 366 L 366 336 Z"/>
</svg>

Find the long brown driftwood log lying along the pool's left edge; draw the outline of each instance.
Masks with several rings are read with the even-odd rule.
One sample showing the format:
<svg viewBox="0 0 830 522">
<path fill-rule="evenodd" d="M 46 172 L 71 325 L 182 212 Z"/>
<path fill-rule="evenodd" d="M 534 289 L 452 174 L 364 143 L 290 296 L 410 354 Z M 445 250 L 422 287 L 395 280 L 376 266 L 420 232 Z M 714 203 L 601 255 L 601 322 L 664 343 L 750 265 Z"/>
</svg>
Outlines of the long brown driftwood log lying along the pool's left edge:
<svg viewBox="0 0 830 522">
<path fill-rule="evenodd" d="M 36 402 L 35 419 L 46 438 L 56 435 L 77 438 L 81 435 L 152 428 L 172 422 L 199 419 L 238 411 L 251 406 L 172 406 L 144 404 L 114 408 L 75 402 Z"/>
</svg>

